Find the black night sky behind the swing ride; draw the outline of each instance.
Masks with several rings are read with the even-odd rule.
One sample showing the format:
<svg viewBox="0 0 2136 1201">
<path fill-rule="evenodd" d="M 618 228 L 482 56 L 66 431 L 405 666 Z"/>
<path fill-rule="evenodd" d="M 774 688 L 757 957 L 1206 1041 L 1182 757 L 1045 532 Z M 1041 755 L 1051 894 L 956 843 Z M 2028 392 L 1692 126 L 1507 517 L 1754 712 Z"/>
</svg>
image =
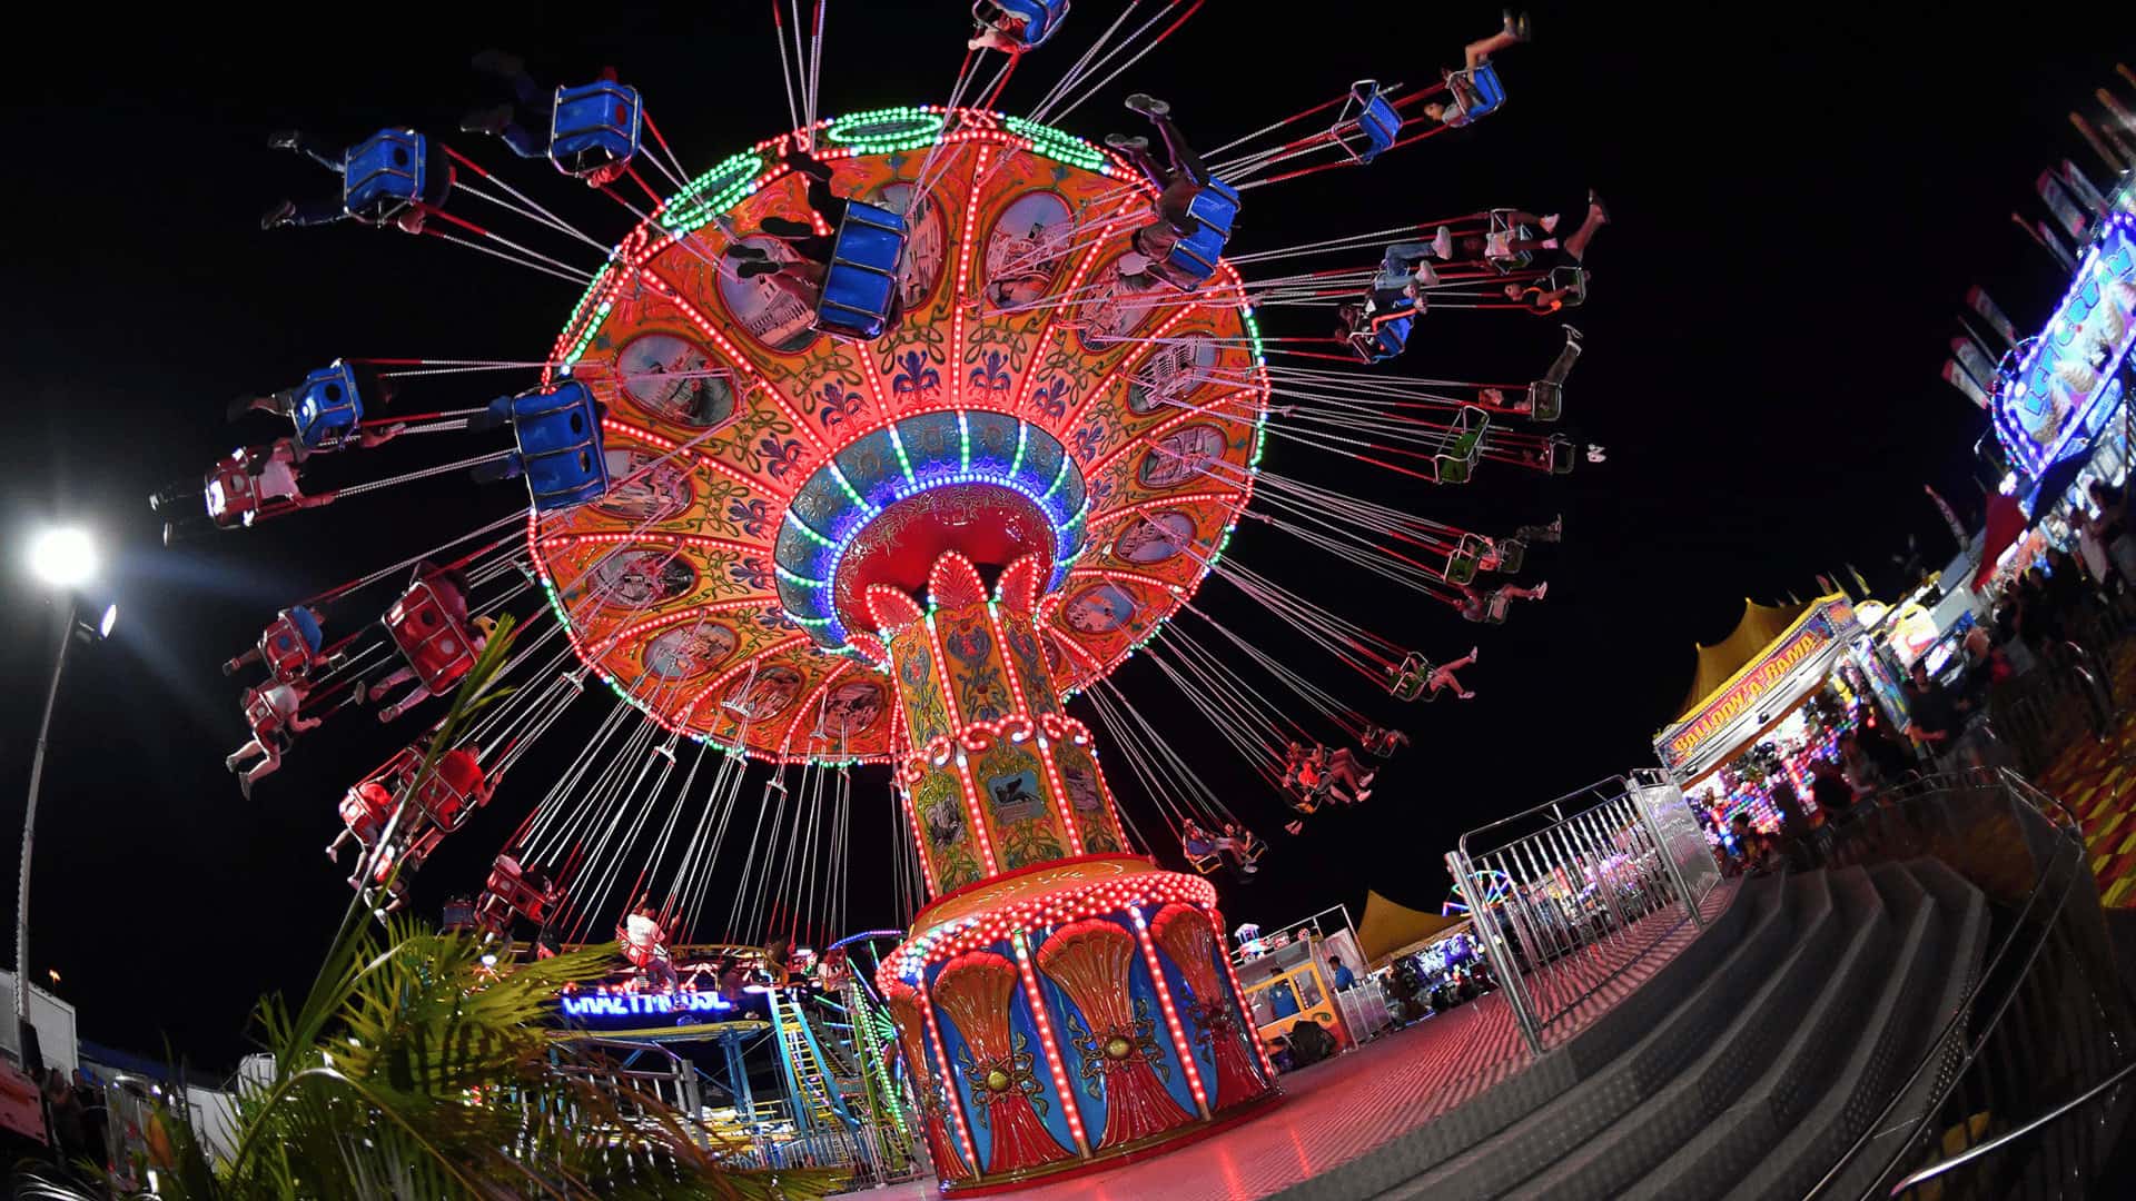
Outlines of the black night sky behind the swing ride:
<svg viewBox="0 0 2136 1201">
<path fill-rule="evenodd" d="M 1427 79 L 1497 21 L 1480 4 L 1226 15 L 1241 9 L 1209 4 L 1059 124 L 1091 139 L 1132 130 L 1138 120 L 1117 103 L 1149 90 L 1173 100 L 1190 137 L 1215 145 L 1358 77 Z M 1566 545 L 1529 556 L 1527 577 L 1551 581 L 1549 603 L 1521 605 L 1506 626 L 1470 626 L 1282 534 L 1241 528 L 1239 562 L 1433 658 L 1482 645 L 1463 675 L 1480 697 L 1465 705 L 1401 709 L 1333 665 L 1316 669 L 1416 737 L 1365 808 L 1324 810 L 1305 838 L 1284 836 L 1277 797 L 1166 680 L 1147 662 L 1119 675 L 1275 842 L 1258 885 L 1226 887 L 1232 921 L 1275 925 L 1337 902 L 1356 913 L 1367 887 L 1438 908 L 1442 855 L 1463 829 L 1651 763 L 1649 739 L 1690 682 L 1692 643 L 1726 635 L 1745 596 L 1807 598 L 1818 573 L 1848 562 L 1890 588 L 1890 553 L 1910 534 L 1935 564 L 1954 549 L 1925 483 L 1961 511 L 1978 506 L 1967 459 L 1982 419 L 1935 378 L 1944 342 L 1972 282 L 1989 284 L 2019 325 L 2044 314 L 2055 269 L 2008 214 L 2044 216 L 2031 177 L 2063 156 L 2104 184 L 2063 113 L 2093 107 L 2091 88 L 2110 79 L 2130 30 L 2095 21 L 2110 6 L 2093 6 L 2080 28 L 2051 6 L 2004 6 L 1997 24 L 1963 28 L 1931 9 L 1745 9 L 1719 19 L 1726 30 L 1628 24 L 1617 9 L 1536 11 L 1540 41 L 1502 58 L 1510 100 L 1491 120 L 1363 173 L 1250 192 L 1241 250 L 1493 205 L 1570 216 L 1587 186 L 1617 222 L 1589 252 L 1591 301 L 1568 314 L 1587 355 L 1559 425 L 1606 444 L 1608 464 L 1566 479 L 1487 466 L 1474 485 L 1431 489 L 1282 444 L 1265 459 L 1487 532 L 1566 515 Z M 320 855 L 342 789 L 417 722 L 380 731 L 344 712 L 248 804 L 222 769 L 244 733 L 239 686 L 218 665 L 278 607 L 474 528 L 523 494 L 444 479 L 173 551 L 158 545 L 145 498 L 239 440 L 222 408 L 246 389 L 284 387 L 337 355 L 540 357 L 577 299 L 564 282 L 436 239 L 361 227 L 261 233 L 258 214 L 284 192 L 331 188 L 267 150 L 267 132 L 303 126 L 333 143 L 382 124 L 446 132 L 596 237 L 615 237 L 626 214 L 613 205 L 496 143 L 451 135 L 483 98 L 472 51 L 506 45 L 543 79 L 617 66 L 692 169 L 784 128 L 786 103 L 760 4 L 579 6 L 600 13 L 587 21 L 560 6 L 508 28 L 350 9 L 164 26 L 79 11 L 83 24 L 13 28 L 17 49 L 38 53 L 19 53 L 9 73 L 15 220 L 0 393 L 13 430 L 0 530 L 19 547 L 38 519 L 92 521 L 113 543 L 103 586 L 124 615 L 111 643 L 77 648 L 60 697 L 32 977 L 62 972 L 58 992 L 79 1007 L 88 1039 L 145 1054 L 169 1043 L 231 1066 L 252 1000 L 308 983 L 348 902 L 346 868 Z M 944 100 L 965 11 L 957 0 L 833 4 L 822 111 Z M 1027 109 L 1111 13 L 1077 4 L 1064 45 L 1027 60 L 1004 107 Z M 1271 333 L 1329 325 L 1288 312 Z M 1397 368 L 1532 378 L 1557 346 L 1549 321 L 1448 312 L 1418 323 Z M 493 391 L 431 389 L 423 408 Z M 449 453 L 468 451 L 436 451 Z M 1205 596 L 1290 662 L 1312 660 L 1309 643 L 1256 622 L 1226 583 Z M 6 829 L 53 639 L 51 605 L 11 560 L 0 571 Z M 478 887 L 575 750 L 568 727 L 551 742 L 431 859 L 417 880 L 423 910 Z M 1130 814 L 1158 827 L 1121 757 L 1106 763 Z M 882 769 L 861 774 L 857 797 L 852 915 L 884 925 L 895 921 L 889 876 L 871 859 L 891 804 Z M 724 913 L 726 898 L 713 906 Z"/>
</svg>

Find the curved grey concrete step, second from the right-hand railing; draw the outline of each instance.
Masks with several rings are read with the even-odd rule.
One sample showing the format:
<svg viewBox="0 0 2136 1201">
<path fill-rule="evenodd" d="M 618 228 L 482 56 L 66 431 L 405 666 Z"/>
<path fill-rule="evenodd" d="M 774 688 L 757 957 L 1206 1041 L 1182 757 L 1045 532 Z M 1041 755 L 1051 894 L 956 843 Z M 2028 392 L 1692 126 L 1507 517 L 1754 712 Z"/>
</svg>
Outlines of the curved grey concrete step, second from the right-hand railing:
<svg viewBox="0 0 2136 1201">
<path fill-rule="evenodd" d="M 1758 1163 L 1764 1148 L 1773 1145 L 1773 1133 L 1786 1130 L 1801 1118 L 1807 1098 L 1822 1094 L 1837 1079 L 1860 1013 L 1890 972 L 1901 934 L 1865 870 L 1843 868 L 1828 876 L 1839 908 L 1837 930 L 1846 942 L 1828 962 L 1818 992 L 1801 996 L 1803 1017 L 1758 1079 L 1705 1130 L 1643 1175 L 1632 1192 L 1640 1197 L 1728 1192 L 1743 1182 L 1743 1173 Z M 1925 908 L 1927 895 L 1918 895 L 1916 902 Z M 1907 925 L 1914 917 L 1914 913 L 1899 915 Z"/>
</svg>

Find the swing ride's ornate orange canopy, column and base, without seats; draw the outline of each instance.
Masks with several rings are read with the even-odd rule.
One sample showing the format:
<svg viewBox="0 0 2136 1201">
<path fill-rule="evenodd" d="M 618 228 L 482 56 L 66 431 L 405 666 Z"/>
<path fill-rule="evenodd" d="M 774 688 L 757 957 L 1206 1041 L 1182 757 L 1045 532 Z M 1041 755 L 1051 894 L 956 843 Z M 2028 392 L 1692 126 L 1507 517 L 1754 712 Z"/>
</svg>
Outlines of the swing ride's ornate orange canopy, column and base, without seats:
<svg viewBox="0 0 2136 1201">
<path fill-rule="evenodd" d="M 893 765 L 933 904 L 878 983 L 944 1182 L 1192 1133 L 1273 1073 L 1215 891 L 1132 853 L 1062 699 L 1194 594 L 1250 500 L 1269 385 L 1237 274 L 1121 282 L 1151 190 L 1083 141 L 869 113 L 816 137 L 833 192 L 904 212 L 929 158 L 940 184 L 908 216 L 904 321 L 835 340 L 677 241 L 724 209 L 788 254 L 754 235 L 810 214 L 786 141 L 630 233 L 557 340 L 624 483 L 536 515 L 536 568 L 666 729 Z"/>
</svg>

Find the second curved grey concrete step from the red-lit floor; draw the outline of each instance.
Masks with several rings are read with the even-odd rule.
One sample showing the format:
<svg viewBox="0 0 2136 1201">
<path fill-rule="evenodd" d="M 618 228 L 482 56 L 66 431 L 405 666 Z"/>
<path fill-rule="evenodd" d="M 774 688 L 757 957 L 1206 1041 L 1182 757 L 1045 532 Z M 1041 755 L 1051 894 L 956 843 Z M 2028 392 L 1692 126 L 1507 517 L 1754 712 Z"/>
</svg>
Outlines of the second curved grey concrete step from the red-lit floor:
<svg viewBox="0 0 2136 1201">
<path fill-rule="evenodd" d="M 1773 964 L 1784 962 L 1788 947 L 1801 940 L 1803 923 L 1831 913 L 1822 876 L 1762 885 L 1745 902 L 1758 908 L 1743 938 L 1638 1043 L 1549 1105 L 1384 1197 L 1495 1197 L 1591 1145 L 1613 1120 L 1640 1109 L 1643 1101 L 1679 1079 L 1702 1047 L 1726 1036 Z"/>
</svg>

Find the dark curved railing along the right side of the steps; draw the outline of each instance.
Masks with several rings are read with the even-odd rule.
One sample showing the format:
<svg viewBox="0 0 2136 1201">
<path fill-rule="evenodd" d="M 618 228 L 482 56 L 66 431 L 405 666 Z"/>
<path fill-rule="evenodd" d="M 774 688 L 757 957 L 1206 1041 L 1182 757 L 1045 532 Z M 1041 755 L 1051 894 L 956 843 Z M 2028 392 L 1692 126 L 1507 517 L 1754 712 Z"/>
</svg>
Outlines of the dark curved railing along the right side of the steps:
<svg viewBox="0 0 2136 1201">
<path fill-rule="evenodd" d="M 2080 1197 L 2136 1101 L 2136 1019 L 2083 833 L 2006 769 L 1895 789 L 1805 844 L 1822 868 L 1935 857 L 1989 898 L 1989 942 L 1927 1054 L 1811 1190 Z"/>
</svg>

